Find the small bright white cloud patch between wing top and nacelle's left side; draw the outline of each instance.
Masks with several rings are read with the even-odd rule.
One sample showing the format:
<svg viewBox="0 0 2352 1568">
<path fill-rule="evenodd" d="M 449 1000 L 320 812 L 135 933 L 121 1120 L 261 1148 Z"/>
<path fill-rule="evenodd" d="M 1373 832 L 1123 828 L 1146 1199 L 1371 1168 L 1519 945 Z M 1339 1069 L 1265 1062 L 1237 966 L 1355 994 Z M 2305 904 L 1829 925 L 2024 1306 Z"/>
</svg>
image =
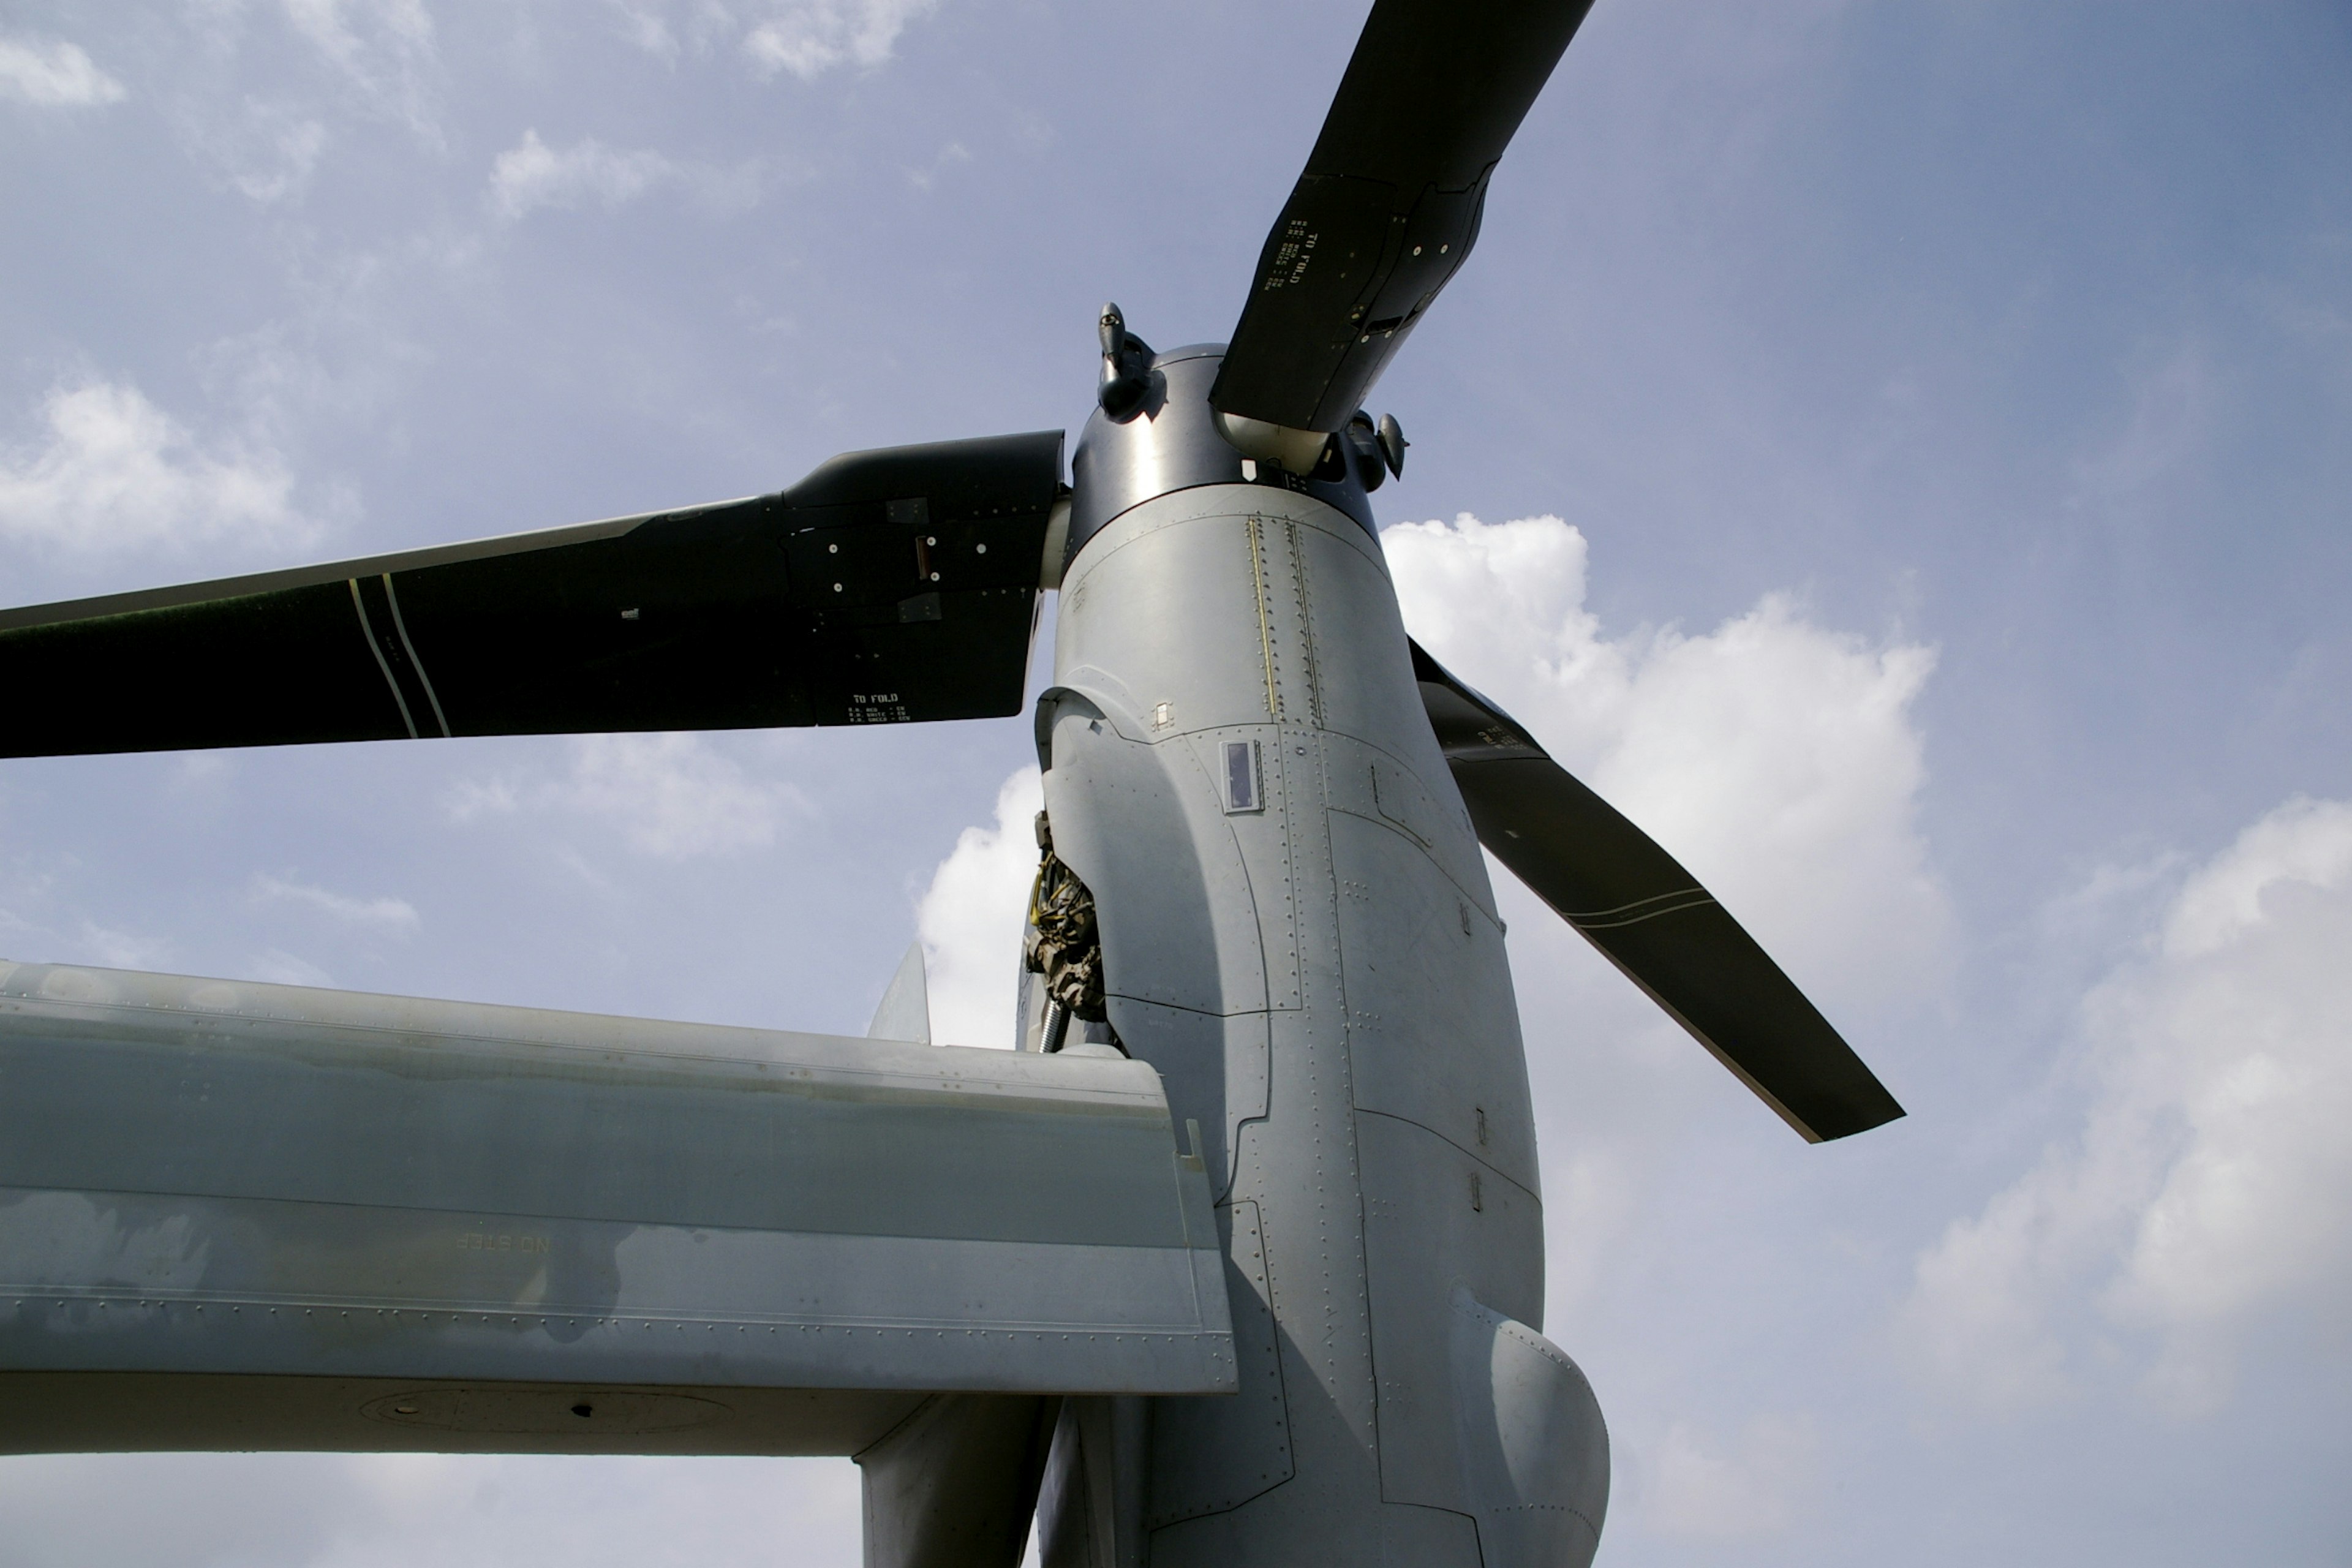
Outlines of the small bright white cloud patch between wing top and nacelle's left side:
<svg viewBox="0 0 2352 1568">
<path fill-rule="evenodd" d="M 964 827 L 915 912 L 931 987 L 931 1039 L 1009 1046 L 1021 924 L 1037 877 L 1044 785 L 1021 769 L 997 790 L 995 827 Z"/>
</svg>

